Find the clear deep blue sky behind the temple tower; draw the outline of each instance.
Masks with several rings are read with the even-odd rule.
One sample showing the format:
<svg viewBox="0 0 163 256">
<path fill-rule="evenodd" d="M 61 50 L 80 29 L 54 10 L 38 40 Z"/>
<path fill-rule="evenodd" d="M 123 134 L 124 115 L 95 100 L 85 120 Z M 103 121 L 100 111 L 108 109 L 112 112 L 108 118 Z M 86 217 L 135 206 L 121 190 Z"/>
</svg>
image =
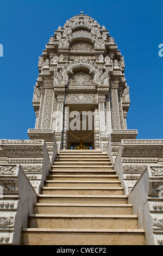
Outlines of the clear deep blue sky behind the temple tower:
<svg viewBox="0 0 163 256">
<path fill-rule="evenodd" d="M 0 0 L 0 138 L 28 139 L 39 56 L 55 29 L 80 11 L 109 30 L 124 56 L 128 129 L 137 129 L 140 139 L 163 138 L 162 0 Z"/>
</svg>

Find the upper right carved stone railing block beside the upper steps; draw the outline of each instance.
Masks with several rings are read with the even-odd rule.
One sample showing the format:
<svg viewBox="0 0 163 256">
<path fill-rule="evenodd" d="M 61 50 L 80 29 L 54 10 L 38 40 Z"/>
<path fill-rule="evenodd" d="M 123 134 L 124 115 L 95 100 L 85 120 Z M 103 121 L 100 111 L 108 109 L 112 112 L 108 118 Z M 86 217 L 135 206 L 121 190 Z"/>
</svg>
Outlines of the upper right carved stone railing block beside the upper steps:
<svg viewBox="0 0 163 256">
<path fill-rule="evenodd" d="M 147 165 L 163 161 L 162 139 L 122 139 L 115 159 L 114 169 L 128 194 Z"/>
</svg>

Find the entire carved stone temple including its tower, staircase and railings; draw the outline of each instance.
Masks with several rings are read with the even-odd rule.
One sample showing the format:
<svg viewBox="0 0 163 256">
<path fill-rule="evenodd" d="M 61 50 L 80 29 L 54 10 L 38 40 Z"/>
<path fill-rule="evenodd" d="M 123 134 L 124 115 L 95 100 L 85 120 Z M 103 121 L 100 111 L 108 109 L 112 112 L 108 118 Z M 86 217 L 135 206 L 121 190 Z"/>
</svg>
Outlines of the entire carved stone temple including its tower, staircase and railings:
<svg viewBox="0 0 163 256">
<path fill-rule="evenodd" d="M 83 12 L 67 20 L 39 57 L 35 129 L 28 130 L 27 140 L 0 141 L 0 245 L 75 245 L 81 242 L 78 231 L 82 245 L 163 245 L 163 140 L 136 139 L 137 130 L 127 129 L 129 105 L 124 58 L 108 30 Z M 72 129 L 74 112 L 80 129 Z M 92 126 L 83 126 L 81 120 L 90 117 Z M 75 151 L 78 144 L 92 151 Z M 80 230 L 71 226 L 76 202 L 82 218 L 91 215 L 88 234 L 81 215 Z M 70 215 L 64 217 L 70 222 L 62 229 L 57 221 L 49 232 L 55 218 L 63 219 L 67 203 Z M 46 216 L 49 207 L 54 210 Z M 92 217 L 95 212 L 98 217 Z M 37 227 L 42 215 L 47 222 Z M 99 228 L 101 218 L 105 229 Z"/>
</svg>

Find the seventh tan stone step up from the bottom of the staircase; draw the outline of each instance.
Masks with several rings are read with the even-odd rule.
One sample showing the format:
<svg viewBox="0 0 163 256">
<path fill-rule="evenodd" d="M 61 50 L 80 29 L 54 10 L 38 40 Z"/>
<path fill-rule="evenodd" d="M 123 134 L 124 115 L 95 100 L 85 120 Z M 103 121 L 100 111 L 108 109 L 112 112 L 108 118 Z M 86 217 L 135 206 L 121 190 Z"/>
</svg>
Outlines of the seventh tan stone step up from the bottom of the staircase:
<svg viewBox="0 0 163 256">
<path fill-rule="evenodd" d="M 65 180 L 65 181 L 68 181 L 68 180 L 87 180 L 87 181 L 105 181 L 105 180 L 118 180 L 118 175 L 116 174 L 112 174 L 112 175 L 77 175 L 77 174 L 72 174 L 72 175 L 69 175 L 69 174 L 58 174 L 58 175 L 47 175 L 47 179 L 48 180 Z"/>
</svg>

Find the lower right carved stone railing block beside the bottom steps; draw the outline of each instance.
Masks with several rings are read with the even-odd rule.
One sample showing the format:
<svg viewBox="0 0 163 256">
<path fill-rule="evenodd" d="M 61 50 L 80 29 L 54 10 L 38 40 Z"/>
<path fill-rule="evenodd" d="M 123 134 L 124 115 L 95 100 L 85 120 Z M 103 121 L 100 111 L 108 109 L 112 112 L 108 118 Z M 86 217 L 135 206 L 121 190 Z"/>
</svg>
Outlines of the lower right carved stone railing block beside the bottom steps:
<svg viewBox="0 0 163 256">
<path fill-rule="evenodd" d="M 148 245 L 163 245 L 163 165 L 147 166 L 128 196 Z"/>
</svg>

